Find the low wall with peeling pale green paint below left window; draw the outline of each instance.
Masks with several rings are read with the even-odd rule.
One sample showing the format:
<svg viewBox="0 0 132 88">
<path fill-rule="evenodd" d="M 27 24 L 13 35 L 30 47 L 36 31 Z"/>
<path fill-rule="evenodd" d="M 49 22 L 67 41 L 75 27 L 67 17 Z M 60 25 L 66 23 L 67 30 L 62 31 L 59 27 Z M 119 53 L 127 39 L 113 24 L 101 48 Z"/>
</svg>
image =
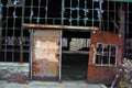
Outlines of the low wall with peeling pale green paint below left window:
<svg viewBox="0 0 132 88">
<path fill-rule="evenodd" d="M 29 79 L 29 64 L 26 63 L 0 63 L 0 79 Z"/>
</svg>

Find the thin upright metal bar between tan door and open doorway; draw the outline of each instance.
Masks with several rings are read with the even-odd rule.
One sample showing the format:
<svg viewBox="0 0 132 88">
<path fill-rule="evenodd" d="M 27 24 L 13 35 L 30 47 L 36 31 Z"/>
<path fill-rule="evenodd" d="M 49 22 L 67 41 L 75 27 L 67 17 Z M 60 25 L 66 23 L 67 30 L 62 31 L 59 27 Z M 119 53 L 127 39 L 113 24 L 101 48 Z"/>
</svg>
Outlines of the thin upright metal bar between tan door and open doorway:
<svg viewBox="0 0 132 88">
<path fill-rule="evenodd" d="M 61 30 L 61 36 L 59 36 L 59 82 L 62 81 L 62 41 L 63 41 L 63 31 Z"/>
</svg>

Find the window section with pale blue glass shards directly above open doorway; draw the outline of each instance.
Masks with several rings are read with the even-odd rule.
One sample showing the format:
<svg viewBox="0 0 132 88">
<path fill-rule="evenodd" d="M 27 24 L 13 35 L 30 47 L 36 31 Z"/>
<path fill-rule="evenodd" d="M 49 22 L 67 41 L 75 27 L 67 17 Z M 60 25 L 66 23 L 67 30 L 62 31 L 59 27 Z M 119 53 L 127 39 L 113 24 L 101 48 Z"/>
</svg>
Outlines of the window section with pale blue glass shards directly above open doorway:
<svg viewBox="0 0 132 88">
<path fill-rule="evenodd" d="M 64 0 L 64 24 L 99 26 L 102 0 Z"/>
</svg>

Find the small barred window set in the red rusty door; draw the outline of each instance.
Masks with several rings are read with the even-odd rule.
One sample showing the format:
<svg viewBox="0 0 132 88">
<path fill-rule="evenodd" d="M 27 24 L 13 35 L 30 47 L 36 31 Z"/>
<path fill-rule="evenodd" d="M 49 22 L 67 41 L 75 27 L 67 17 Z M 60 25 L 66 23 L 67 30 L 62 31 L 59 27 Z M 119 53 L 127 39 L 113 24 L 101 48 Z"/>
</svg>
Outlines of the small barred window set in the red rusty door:
<svg viewBox="0 0 132 88">
<path fill-rule="evenodd" d="M 112 44 L 97 43 L 96 46 L 96 65 L 116 66 L 117 46 Z"/>
</svg>

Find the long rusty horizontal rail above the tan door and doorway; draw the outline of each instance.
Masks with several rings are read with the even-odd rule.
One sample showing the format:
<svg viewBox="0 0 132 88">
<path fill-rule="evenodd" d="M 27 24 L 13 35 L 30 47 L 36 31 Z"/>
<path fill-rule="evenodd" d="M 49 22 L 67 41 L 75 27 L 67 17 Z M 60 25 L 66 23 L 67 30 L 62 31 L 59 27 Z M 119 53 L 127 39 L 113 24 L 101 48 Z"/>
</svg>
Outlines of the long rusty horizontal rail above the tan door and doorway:
<svg viewBox="0 0 132 88">
<path fill-rule="evenodd" d="M 50 24 L 23 24 L 24 28 L 29 29 L 57 29 L 57 30 L 65 30 L 65 29 L 74 29 L 74 30 L 88 30 L 88 31 L 98 31 L 99 28 L 96 26 L 68 26 L 68 25 L 50 25 Z"/>
</svg>

